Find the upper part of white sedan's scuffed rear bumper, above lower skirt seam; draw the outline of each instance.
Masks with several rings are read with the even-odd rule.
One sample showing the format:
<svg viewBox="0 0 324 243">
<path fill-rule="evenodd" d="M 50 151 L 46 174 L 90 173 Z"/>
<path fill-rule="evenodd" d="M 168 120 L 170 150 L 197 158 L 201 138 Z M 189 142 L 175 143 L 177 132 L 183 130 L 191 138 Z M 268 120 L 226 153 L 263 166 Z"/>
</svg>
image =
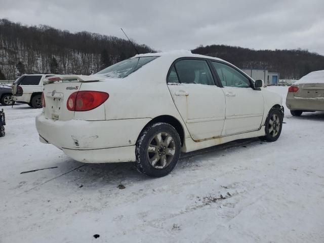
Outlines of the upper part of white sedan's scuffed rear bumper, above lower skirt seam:
<svg viewBox="0 0 324 243">
<path fill-rule="evenodd" d="M 150 120 L 54 121 L 42 113 L 36 117 L 36 129 L 42 139 L 60 149 L 107 149 L 135 145 L 139 133 Z"/>
</svg>

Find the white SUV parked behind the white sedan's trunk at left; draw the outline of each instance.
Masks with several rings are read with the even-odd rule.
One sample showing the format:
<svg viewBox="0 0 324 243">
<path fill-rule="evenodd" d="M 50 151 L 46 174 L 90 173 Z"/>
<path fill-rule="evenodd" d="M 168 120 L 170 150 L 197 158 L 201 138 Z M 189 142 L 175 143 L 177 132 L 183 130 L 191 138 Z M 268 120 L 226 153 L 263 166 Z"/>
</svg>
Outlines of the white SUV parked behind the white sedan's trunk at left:
<svg viewBox="0 0 324 243">
<path fill-rule="evenodd" d="M 20 76 L 12 88 L 13 100 L 34 108 L 42 108 L 43 80 L 53 75 L 55 74 L 37 73 Z"/>
</svg>

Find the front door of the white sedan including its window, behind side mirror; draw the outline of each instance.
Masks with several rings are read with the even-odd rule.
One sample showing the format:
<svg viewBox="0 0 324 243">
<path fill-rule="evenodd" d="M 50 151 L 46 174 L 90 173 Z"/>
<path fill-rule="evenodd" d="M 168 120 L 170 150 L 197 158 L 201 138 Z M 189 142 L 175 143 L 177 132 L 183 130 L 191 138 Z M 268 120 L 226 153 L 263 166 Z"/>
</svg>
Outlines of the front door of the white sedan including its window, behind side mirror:
<svg viewBox="0 0 324 243">
<path fill-rule="evenodd" d="M 236 68 L 221 62 L 211 63 L 220 78 L 226 97 L 222 136 L 260 129 L 264 110 L 261 91 L 254 90 L 250 79 Z"/>
</svg>

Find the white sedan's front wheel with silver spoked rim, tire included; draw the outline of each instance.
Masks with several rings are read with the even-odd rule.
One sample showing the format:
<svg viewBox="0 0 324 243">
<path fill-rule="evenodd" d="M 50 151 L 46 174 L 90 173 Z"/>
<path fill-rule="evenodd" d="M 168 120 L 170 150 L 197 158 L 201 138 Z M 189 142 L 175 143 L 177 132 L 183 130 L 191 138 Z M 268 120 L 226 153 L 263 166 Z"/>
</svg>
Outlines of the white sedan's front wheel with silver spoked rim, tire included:
<svg viewBox="0 0 324 243">
<path fill-rule="evenodd" d="M 275 107 L 271 108 L 265 120 L 265 136 L 261 137 L 261 139 L 267 142 L 276 141 L 281 134 L 283 119 L 284 116 L 280 109 Z"/>
</svg>

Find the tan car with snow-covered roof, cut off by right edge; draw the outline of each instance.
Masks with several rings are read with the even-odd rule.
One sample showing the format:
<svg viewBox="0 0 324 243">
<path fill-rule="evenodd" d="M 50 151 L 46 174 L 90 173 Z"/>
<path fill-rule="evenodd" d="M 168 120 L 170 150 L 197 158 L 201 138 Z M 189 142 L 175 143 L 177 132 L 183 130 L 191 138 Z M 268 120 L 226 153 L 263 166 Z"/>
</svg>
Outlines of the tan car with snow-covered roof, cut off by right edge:
<svg viewBox="0 0 324 243">
<path fill-rule="evenodd" d="M 286 105 L 294 116 L 324 111 L 324 70 L 310 72 L 289 87 Z"/>
</svg>

